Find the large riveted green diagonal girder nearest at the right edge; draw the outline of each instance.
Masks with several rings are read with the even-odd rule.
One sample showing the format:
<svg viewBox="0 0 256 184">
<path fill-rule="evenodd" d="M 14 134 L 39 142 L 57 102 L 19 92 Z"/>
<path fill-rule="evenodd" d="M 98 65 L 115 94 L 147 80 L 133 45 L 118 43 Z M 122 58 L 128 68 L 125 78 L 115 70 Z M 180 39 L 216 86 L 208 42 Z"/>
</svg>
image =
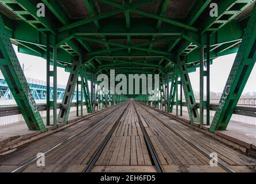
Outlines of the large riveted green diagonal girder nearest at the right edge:
<svg viewBox="0 0 256 184">
<path fill-rule="evenodd" d="M 232 116 L 236 104 L 243 92 L 244 86 L 253 70 L 256 61 L 256 6 L 253 11 L 247 28 L 244 30 L 243 40 L 240 44 L 238 54 L 229 73 L 227 83 L 217 111 L 213 117 L 209 131 L 225 130 Z"/>
</svg>

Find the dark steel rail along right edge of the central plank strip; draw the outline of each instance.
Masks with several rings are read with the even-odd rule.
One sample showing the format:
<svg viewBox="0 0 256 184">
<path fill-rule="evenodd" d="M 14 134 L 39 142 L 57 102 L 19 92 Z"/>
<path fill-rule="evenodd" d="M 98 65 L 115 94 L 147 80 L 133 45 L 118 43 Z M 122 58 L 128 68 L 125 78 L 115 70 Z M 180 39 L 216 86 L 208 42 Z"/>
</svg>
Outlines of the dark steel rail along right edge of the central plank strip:
<svg viewBox="0 0 256 184">
<path fill-rule="evenodd" d="M 154 147 L 153 147 L 153 145 L 152 145 L 152 143 L 151 143 L 151 141 L 149 139 L 148 133 L 146 133 L 146 129 L 145 129 L 144 125 L 142 124 L 141 118 L 140 118 L 140 116 L 138 114 L 137 109 L 135 108 L 134 103 L 133 103 L 133 106 L 134 106 L 135 112 L 136 112 L 136 114 L 138 116 L 138 122 L 140 123 L 141 130 L 142 130 L 144 139 L 146 141 L 146 147 L 148 147 L 148 150 L 150 152 L 150 156 L 151 156 L 151 158 L 153 160 L 153 163 L 155 164 L 156 170 L 157 170 L 158 173 L 164 173 L 164 169 L 161 166 L 159 158 L 157 157 L 156 151 L 155 151 L 155 149 L 154 149 Z"/>
</svg>

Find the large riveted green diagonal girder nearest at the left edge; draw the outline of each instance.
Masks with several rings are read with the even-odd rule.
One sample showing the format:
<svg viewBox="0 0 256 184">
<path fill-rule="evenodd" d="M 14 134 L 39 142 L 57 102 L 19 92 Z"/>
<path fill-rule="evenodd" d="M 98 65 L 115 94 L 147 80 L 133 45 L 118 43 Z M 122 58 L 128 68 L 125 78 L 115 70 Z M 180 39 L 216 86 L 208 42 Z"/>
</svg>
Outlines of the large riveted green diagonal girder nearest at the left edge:
<svg viewBox="0 0 256 184">
<path fill-rule="evenodd" d="M 47 131 L 0 16 L 0 69 L 30 130 Z"/>
</svg>

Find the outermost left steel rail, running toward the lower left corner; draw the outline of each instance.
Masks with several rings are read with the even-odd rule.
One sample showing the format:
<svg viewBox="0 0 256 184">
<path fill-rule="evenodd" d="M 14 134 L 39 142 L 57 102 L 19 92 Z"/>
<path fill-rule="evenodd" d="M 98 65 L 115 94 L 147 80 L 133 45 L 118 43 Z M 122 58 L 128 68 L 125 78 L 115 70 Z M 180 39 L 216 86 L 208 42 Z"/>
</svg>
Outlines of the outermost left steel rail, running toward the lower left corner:
<svg viewBox="0 0 256 184">
<path fill-rule="evenodd" d="M 112 107 L 111 109 L 115 108 L 116 106 Z M 94 113 L 92 114 L 92 116 L 89 116 L 89 117 L 93 117 L 93 116 L 96 116 L 96 115 L 99 115 L 100 113 L 103 113 L 105 112 L 106 110 L 110 110 L 110 109 L 104 109 L 102 111 L 100 111 L 99 113 Z M 115 110 L 113 110 L 110 114 L 114 113 Z M 61 145 L 65 144 L 67 141 L 73 139 L 74 137 L 80 135 L 82 132 L 86 131 L 87 129 L 93 127 L 94 125 L 96 125 L 99 121 L 103 120 L 104 118 L 110 116 L 110 114 L 106 114 L 106 116 L 100 118 L 99 120 L 96 120 L 94 121 L 92 124 L 86 126 L 85 128 L 81 129 L 81 131 L 77 132 L 77 133 L 74 133 L 74 135 L 66 138 L 65 140 L 61 141 L 61 143 L 55 145 L 54 147 L 51 147 L 50 149 L 48 149 L 46 152 L 44 152 L 43 154 L 37 156 L 36 158 L 34 159 L 31 159 L 29 160 L 28 162 L 22 164 L 20 167 L 16 168 L 15 170 L 12 171 L 12 173 L 17 173 L 18 171 L 21 171 L 21 170 L 24 170 L 24 168 L 27 168 L 29 165 L 31 165 L 32 163 L 36 162 L 38 159 L 40 159 L 43 155 L 46 155 L 54 150 L 56 150 L 58 147 L 60 147 Z M 87 118 L 89 118 L 87 117 Z M 86 120 L 86 117 L 85 118 L 82 118 L 81 120 L 79 120 L 78 122 L 81 122 L 81 121 L 84 121 Z"/>
</svg>

